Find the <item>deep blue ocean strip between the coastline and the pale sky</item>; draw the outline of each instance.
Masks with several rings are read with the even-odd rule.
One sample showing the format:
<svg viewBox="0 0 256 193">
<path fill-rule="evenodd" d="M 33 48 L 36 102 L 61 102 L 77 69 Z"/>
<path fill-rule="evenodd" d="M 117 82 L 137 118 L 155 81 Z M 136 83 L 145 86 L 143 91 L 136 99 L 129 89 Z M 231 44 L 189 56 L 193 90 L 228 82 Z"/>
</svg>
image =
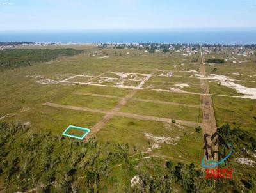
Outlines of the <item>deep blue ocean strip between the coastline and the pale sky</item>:
<svg viewBox="0 0 256 193">
<path fill-rule="evenodd" d="M 0 31 L 1 42 L 255 44 L 256 30 Z"/>
</svg>

